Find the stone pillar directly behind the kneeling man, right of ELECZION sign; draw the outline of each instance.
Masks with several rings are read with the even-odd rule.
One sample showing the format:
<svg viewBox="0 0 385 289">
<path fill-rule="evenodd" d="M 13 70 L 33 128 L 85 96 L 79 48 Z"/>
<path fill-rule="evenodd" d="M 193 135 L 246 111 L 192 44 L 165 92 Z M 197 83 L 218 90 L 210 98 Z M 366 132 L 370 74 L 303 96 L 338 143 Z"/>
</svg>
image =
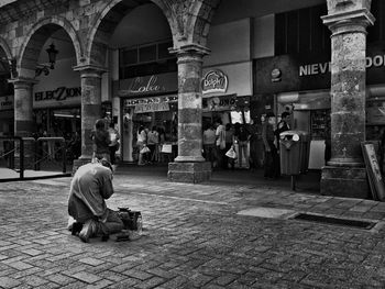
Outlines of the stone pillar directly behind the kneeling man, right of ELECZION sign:
<svg viewBox="0 0 385 289">
<path fill-rule="evenodd" d="M 74 162 L 73 173 L 92 157 L 90 134 L 96 121 L 101 118 L 101 75 L 106 69 L 81 65 L 74 70 L 80 71 L 81 79 L 81 155 Z"/>
</svg>

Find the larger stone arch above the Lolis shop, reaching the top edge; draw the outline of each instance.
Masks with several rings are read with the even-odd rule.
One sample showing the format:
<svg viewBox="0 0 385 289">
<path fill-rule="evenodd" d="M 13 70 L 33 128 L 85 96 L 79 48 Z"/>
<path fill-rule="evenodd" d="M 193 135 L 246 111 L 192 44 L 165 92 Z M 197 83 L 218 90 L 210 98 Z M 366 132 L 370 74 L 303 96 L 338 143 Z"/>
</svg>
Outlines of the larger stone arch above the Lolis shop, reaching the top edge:
<svg viewBox="0 0 385 289">
<path fill-rule="evenodd" d="M 142 4 L 153 2 L 156 4 L 166 16 L 170 30 L 173 33 L 173 38 L 176 33 L 174 33 L 175 22 L 173 21 L 172 10 L 167 9 L 162 0 L 147 0 L 141 1 Z M 138 4 L 140 5 L 140 4 Z M 136 7 L 138 7 L 136 5 Z M 90 23 L 91 30 L 87 40 L 86 57 L 90 65 L 105 67 L 106 53 L 108 47 L 109 35 L 112 34 L 113 30 L 117 27 L 119 22 L 125 16 L 125 14 L 136 7 L 130 7 L 124 3 L 123 0 L 111 0 L 106 8 L 99 13 L 95 19 L 94 23 Z M 175 38 L 174 38 L 175 41 Z"/>
</svg>

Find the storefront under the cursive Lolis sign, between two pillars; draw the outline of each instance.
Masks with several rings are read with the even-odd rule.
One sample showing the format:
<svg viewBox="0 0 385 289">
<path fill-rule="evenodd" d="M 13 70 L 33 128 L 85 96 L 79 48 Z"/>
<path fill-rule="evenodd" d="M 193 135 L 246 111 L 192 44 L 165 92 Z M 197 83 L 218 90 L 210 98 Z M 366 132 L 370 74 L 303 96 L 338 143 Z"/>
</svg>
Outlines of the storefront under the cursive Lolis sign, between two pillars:
<svg viewBox="0 0 385 289">
<path fill-rule="evenodd" d="M 136 134 L 141 125 L 156 127 L 164 143 L 176 153 L 178 131 L 177 75 L 167 73 L 116 81 L 114 93 L 121 99 L 123 162 L 138 160 Z M 153 153 L 153 152 L 152 152 Z"/>
</svg>

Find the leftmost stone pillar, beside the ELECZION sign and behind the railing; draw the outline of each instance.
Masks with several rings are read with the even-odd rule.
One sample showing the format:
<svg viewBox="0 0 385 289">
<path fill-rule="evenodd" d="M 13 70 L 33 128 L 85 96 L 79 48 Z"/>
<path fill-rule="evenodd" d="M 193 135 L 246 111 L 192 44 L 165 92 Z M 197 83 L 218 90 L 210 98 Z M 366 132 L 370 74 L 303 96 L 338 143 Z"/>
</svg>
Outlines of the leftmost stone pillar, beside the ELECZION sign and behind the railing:
<svg viewBox="0 0 385 289">
<path fill-rule="evenodd" d="M 14 89 L 14 135 L 25 137 L 24 168 L 34 167 L 35 142 L 32 134 L 35 131 L 33 122 L 32 88 L 37 81 L 32 78 L 14 78 L 9 80 Z M 15 142 L 14 166 L 20 164 L 20 143 Z"/>
</svg>

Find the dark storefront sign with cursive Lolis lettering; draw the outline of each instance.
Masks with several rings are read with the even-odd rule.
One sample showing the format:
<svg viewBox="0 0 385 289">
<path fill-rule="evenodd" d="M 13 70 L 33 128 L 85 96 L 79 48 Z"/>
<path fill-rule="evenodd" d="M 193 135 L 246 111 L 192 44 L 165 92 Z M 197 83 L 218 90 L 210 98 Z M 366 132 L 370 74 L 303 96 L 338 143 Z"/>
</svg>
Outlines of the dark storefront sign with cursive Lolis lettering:
<svg viewBox="0 0 385 289">
<path fill-rule="evenodd" d="M 175 73 L 120 80 L 118 96 L 145 96 L 170 91 L 177 91 L 177 76 Z"/>
</svg>

